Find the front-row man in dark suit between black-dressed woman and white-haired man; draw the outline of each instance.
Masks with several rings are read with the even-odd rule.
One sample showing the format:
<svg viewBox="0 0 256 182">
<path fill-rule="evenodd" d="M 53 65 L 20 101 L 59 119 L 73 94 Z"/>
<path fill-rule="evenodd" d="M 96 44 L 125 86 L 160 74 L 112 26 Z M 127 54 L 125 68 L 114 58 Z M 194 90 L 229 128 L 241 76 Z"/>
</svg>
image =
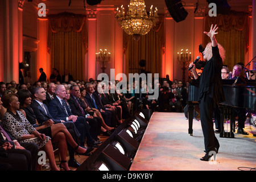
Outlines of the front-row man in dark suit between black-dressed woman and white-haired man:
<svg viewBox="0 0 256 182">
<path fill-rule="evenodd" d="M 46 93 L 42 87 L 35 88 L 33 90 L 33 96 L 35 100 L 30 105 L 33 109 L 36 120 L 39 125 L 43 125 L 44 122 L 47 122 L 49 119 L 52 119 L 54 123 L 63 123 L 67 127 L 67 130 L 72 135 L 76 143 L 79 143 L 80 133 L 77 130 L 75 124 L 72 121 L 63 121 L 61 119 L 55 119 L 49 112 L 47 105 L 43 104 L 43 101 L 46 100 Z M 67 142 L 68 151 L 69 151 L 69 161 L 68 166 L 70 167 L 79 167 L 80 164 L 74 158 L 74 150 Z"/>
</svg>

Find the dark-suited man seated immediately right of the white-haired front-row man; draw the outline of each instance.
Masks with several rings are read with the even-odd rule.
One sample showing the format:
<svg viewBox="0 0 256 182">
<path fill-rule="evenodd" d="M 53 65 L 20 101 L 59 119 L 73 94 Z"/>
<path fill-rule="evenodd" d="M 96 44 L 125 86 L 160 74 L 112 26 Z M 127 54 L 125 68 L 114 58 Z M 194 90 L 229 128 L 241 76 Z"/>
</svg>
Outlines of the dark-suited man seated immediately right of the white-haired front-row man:
<svg viewBox="0 0 256 182">
<path fill-rule="evenodd" d="M 79 96 L 80 89 L 78 85 L 73 85 L 70 87 L 71 96 L 69 98 L 69 106 L 71 108 L 71 112 L 74 115 L 78 115 L 81 117 L 85 117 L 85 121 L 87 121 L 90 125 L 90 135 L 97 140 L 98 135 L 101 133 L 101 118 L 93 117 L 89 115 L 84 109 L 82 109 L 77 97 Z"/>
</svg>

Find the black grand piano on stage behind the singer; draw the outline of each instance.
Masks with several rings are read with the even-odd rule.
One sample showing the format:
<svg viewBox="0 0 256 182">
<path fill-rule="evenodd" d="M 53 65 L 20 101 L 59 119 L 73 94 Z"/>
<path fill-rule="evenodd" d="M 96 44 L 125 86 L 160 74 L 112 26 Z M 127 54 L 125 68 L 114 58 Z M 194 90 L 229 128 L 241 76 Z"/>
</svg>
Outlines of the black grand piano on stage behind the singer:
<svg viewBox="0 0 256 182">
<path fill-rule="evenodd" d="M 235 117 L 232 117 L 233 107 L 245 108 L 249 111 L 256 109 L 256 82 L 255 80 L 222 80 L 225 94 L 225 102 L 220 103 L 221 109 L 221 133 L 220 137 L 234 138 Z M 188 88 L 188 133 L 193 135 L 193 110 L 198 105 L 199 83 L 192 80 Z M 230 131 L 224 131 L 224 119 L 230 118 Z"/>
</svg>

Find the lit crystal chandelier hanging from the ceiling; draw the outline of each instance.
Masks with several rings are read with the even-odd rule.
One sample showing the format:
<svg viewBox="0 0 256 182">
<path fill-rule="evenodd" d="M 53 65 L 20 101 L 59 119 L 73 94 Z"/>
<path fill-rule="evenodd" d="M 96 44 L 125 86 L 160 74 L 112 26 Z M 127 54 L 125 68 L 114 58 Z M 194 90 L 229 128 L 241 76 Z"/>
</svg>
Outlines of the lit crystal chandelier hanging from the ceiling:
<svg viewBox="0 0 256 182">
<path fill-rule="evenodd" d="M 128 11 L 125 15 L 123 5 L 115 14 L 118 25 L 129 35 L 133 35 L 135 40 L 139 40 L 141 35 L 146 35 L 156 22 L 158 22 L 158 9 L 155 8 L 154 13 L 150 8 L 149 15 L 146 12 L 144 0 L 131 0 L 128 5 Z"/>
</svg>

